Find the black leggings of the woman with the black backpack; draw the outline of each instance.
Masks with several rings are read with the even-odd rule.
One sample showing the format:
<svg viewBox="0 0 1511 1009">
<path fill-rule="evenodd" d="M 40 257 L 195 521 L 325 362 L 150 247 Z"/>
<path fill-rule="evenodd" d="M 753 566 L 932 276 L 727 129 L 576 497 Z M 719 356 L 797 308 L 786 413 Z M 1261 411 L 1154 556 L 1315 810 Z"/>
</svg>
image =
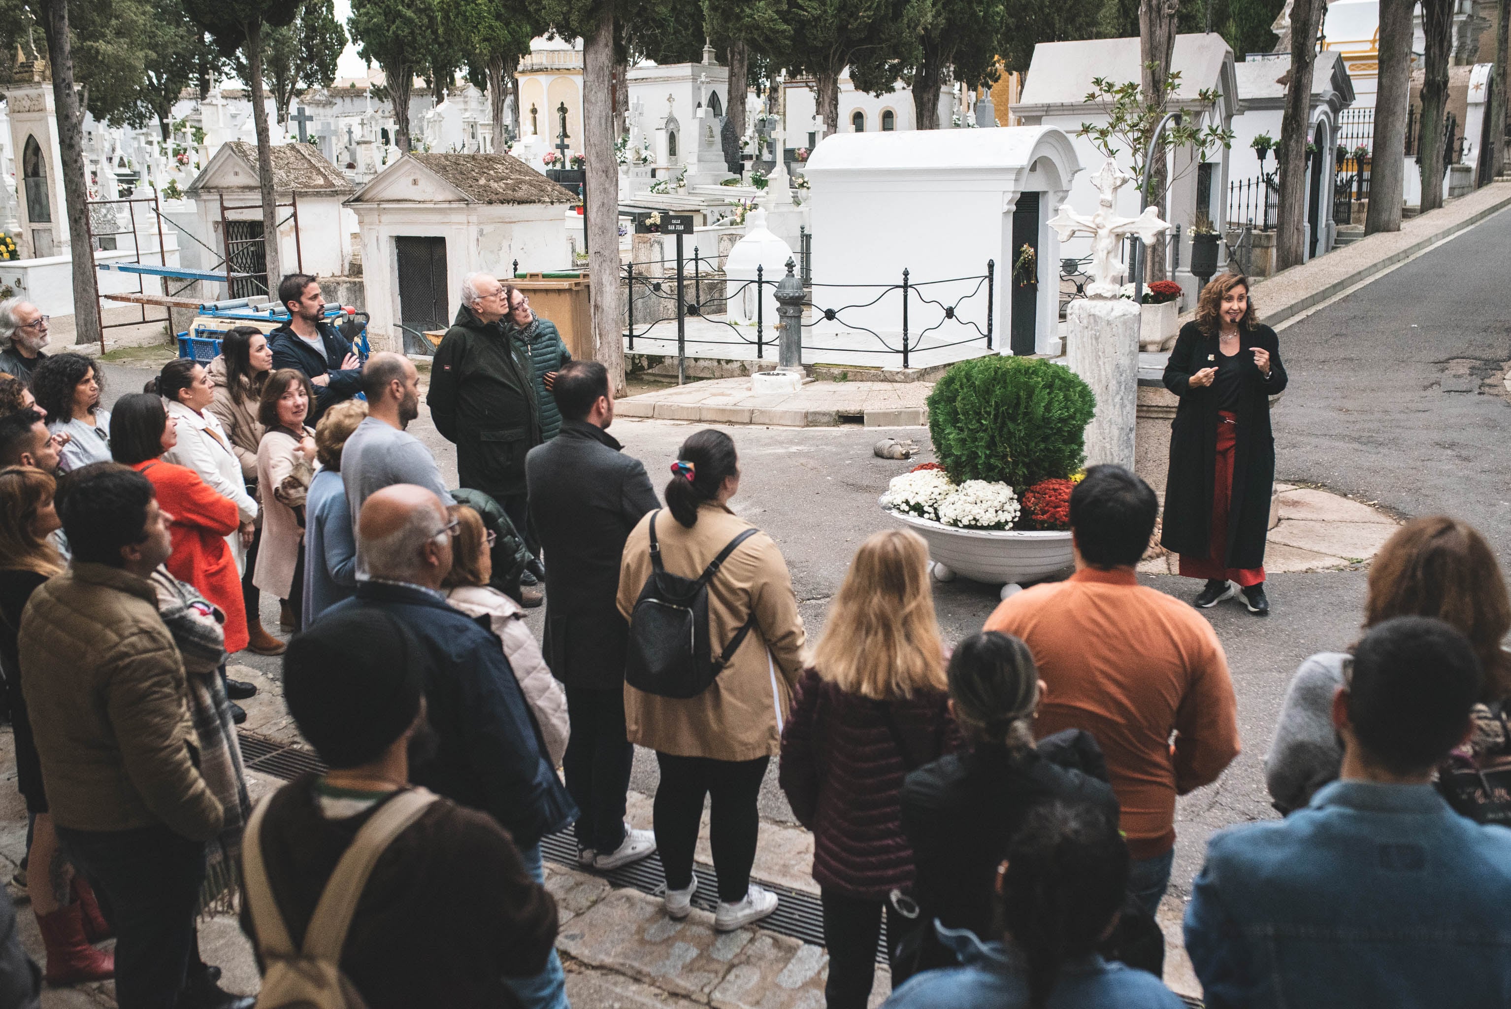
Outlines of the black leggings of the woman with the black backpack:
<svg viewBox="0 0 1511 1009">
<path fill-rule="evenodd" d="M 749 890 L 756 864 L 756 834 L 760 813 L 756 796 L 771 757 L 757 760 L 710 760 L 656 754 L 660 784 L 656 787 L 656 847 L 668 890 L 692 884 L 692 855 L 698 846 L 703 799 L 713 798 L 709 843 L 713 870 L 719 876 L 719 900 L 734 903 Z"/>
</svg>

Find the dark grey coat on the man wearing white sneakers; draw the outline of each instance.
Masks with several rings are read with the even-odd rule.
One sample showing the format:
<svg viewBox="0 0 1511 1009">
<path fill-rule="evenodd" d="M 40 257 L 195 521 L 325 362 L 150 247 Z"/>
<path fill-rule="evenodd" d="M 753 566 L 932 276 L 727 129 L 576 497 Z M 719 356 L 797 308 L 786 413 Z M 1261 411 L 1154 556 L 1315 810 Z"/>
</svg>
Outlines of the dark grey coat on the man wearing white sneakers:
<svg viewBox="0 0 1511 1009">
<path fill-rule="evenodd" d="M 530 524 L 545 551 L 545 634 L 552 675 L 568 687 L 618 690 L 630 625 L 620 615 L 620 557 L 645 512 L 660 508 L 645 467 L 585 420 L 530 449 Z"/>
</svg>

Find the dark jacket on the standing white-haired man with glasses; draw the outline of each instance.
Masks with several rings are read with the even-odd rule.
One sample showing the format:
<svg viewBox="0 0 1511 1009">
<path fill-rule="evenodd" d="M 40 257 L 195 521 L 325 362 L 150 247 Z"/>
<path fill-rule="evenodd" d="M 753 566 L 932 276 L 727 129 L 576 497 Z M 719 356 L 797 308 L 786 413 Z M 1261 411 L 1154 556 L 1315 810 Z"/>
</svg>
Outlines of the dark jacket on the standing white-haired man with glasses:
<svg viewBox="0 0 1511 1009">
<path fill-rule="evenodd" d="M 523 343 L 464 305 L 435 350 L 425 402 L 456 443 L 462 486 L 496 500 L 524 494 L 524 455 L 541 444 L 541 418 Z"/>
</svg>

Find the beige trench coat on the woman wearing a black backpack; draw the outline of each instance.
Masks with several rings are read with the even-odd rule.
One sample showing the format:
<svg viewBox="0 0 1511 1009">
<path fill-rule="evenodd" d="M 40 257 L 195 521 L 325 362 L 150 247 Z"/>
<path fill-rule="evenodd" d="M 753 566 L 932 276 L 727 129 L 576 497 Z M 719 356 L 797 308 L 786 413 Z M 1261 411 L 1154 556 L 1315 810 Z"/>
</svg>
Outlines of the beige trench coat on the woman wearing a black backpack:
<svg viewBox="0 0 1511 1009">
<path fill-rule="evenodd" d="M 650 520 L 662 563 L 672 574 L 698 577 L 751 523 L 707 503 L 692 529 L 668 511 L 639 521 L 624 544 L 620 563 L 620 613 L 626 619 L 651 572 Z M 756 627 L 719 678 L 695 698 L 675 699 L 624 686 L 624 724 L 632 743 L 677 757 L 757 760 L 781 751 L 780 720 L 786 724 L 792 692 L 802 675 L 805 634 L 787 562 L 766 533 L 757 533 L 730 554 L 709 583 L 709 630 L 713 653 L 728 645 L 754 610 Z"/>
</svg>

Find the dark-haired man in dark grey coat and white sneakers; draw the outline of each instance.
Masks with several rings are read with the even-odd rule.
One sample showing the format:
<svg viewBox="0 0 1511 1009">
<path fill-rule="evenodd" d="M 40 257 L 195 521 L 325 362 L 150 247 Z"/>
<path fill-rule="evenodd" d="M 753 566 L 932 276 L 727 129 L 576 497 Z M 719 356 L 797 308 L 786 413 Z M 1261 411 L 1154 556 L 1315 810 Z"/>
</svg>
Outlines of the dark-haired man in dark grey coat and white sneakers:
<svg viewBox="0 0 1511 1009">
<path fill-rule="evenodd" d="M 530 523 L 545 559 L 545 662 L 567 689 L 571 739 L 562 769 L 582 811 L 577 861 L 616 869 L 656 850 L 624 823 L 635 748 L 624 736 L 629 624 L 620 616 L 620 556 L 630 530 L 659 508 L 641 461 L 620 452 L 609 373 L 570 361 L 552 387 L 561 434 L 524 461 Z"/>
</svg>

